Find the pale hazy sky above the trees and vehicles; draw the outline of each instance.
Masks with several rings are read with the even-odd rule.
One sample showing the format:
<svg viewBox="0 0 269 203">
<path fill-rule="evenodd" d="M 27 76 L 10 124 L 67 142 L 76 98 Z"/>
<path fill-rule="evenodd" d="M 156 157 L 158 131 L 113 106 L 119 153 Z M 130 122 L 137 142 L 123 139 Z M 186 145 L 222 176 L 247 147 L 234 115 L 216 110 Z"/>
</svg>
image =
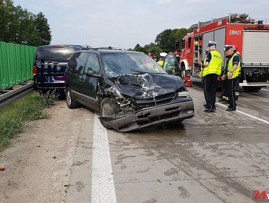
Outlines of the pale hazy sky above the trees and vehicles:
<svg viewBox="0 0 269 203">
<path fill-rule="evenodd" d="M 13 0 L 51 28 L 51 44 L 134 48 L 165 29 L 189 28 L 229 13 L 269 19 L 269 0 Z"/>
</svg>

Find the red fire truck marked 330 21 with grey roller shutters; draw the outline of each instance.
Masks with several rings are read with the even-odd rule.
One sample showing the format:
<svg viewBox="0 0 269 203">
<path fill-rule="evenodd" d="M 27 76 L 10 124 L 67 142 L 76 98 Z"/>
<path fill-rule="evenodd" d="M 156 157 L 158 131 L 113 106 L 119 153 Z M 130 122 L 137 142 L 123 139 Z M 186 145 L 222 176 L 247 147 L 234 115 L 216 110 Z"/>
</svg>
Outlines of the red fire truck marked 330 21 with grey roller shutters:
<svg viewBox="0 0 269 203">
<path fill-rule="evenodd" d="M 238 47 L 242 57 L 240 86 L 247 91 L 259 91 L 262 86 L 269 85 L 269 20 L 255 20 L 248 14 L 229 14 L 207 22 L 199 22 L 191 26 L 193 32 L 188 33 L 181 42 L 180 70 L 182 77 L 191 75 L 199 77 L 201 67 L 195 57 L 206 58 L 205 49 L 208 41 L 217 42 L 216 49 L 222 54 L 225 66 L 224 45 Z"/>
</svg>

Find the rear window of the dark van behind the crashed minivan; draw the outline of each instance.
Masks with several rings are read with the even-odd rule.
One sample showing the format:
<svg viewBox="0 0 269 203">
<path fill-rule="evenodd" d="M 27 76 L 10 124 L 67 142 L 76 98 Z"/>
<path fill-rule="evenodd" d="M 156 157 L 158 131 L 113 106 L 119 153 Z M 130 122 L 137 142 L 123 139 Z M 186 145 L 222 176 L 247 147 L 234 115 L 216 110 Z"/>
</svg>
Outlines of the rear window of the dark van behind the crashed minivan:
<svg viewBox="0 0 269 203">
<path fill-rule="evenodd" d="M 68 62 L 73 53 L 79 51 L 79 48 L 44 48 L 37 52 L 36 60 L 40 62 Z"/>
</svg>

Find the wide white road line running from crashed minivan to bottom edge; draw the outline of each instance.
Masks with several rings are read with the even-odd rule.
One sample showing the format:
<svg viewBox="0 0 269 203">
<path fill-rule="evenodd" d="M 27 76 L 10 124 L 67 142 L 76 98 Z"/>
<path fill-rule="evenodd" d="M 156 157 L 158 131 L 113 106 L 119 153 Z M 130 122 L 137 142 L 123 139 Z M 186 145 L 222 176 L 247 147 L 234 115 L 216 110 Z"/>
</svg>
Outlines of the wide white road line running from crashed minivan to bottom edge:
<svg viewBox="0 0 269 203">
<path fill-rule="evenodd" d="M 117 203 L 107 129 L 94 116 L 92 203 Z"/>
</svg>

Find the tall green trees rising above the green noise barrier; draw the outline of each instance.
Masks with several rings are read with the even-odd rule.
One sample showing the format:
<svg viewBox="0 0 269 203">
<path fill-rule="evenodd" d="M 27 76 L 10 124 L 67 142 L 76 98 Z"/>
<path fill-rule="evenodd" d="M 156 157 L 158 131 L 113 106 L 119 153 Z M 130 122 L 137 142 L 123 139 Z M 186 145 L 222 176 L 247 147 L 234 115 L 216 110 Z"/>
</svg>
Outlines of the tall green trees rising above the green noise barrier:
<svg viewBox="0 0 269 203">
<path fill-rule="evenodd" d="M 50 44 L 51 30 L 42 12 L 37 15 L 0 0 L 0 41 L 40 46 Z"/>
</svg>

